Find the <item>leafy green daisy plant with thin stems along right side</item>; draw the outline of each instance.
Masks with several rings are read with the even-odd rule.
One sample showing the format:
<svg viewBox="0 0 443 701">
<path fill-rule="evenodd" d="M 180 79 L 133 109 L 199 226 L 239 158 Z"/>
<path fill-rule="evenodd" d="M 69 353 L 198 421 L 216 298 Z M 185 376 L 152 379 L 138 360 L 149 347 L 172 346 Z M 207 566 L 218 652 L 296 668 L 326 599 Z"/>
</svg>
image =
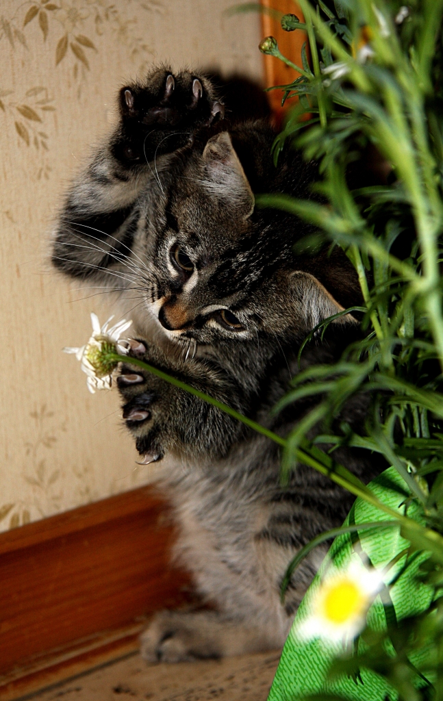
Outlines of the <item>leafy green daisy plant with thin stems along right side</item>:
<svg viewBox="0 0 443 701">
<path fill-rule="evenodd" d="M 294 469 L 301 445 L 309 451 L 329 444 L 331 456 L 342 444 L 375 451 L 407 483 L 405 517 L 414 501 L 437 536 L 443 533 L 443 2 L 415 0 L 406 7 L 395 0 L 335 0 L 334 12 L 322 0 L 299 4 L 306 21 L 285 15 L 282 26 L 307 32 L 312 67 L 305 46 L 301 77 L 278 86 L 282 102 L 295 96 L 299 101 L 275 140 L 274 156 L 278 163 L 289 139 L 307 159 L 318 159 L 322 182 L 315 189 L 323 202 L 261 196 L 257 203 L 314 224 L 318 233 L 306 247 L 329 241 L 343 248 L 360 280 L 364 336 L 336 365 L 301 372 L 276 407 L 307 395 L 320 398 L 287 437 L 283 474 Z M 260 48 L 285 60 L 271 37 Z M 300 119 L 304 113 L 311 115 L 307 122 Z M 368 144 L 386 159 L 390 184 L 352 190 L 347 172 Z M 364 435 L 334 421 L 356 392 L 372 395 Z M 322 435 L 306 444 L 306 432 L 318 423 Z M 366 651 L 337 659 L 331 674 L 356 674 L 365 666 L 385 676 L 405 701 L 441 699 L 442 542 L 435 538 L 431 548 L 429 531 L 412 539 L 407 528 L 402 532 L 411 542 L 409 554 L 430 554 L 422 577 L 434 587 L 434 601 L 425 613 L 386 631 L 367 630 Z M 409 654 L 424 647 L 426 683 L 408 662 Z"/>
</svg>

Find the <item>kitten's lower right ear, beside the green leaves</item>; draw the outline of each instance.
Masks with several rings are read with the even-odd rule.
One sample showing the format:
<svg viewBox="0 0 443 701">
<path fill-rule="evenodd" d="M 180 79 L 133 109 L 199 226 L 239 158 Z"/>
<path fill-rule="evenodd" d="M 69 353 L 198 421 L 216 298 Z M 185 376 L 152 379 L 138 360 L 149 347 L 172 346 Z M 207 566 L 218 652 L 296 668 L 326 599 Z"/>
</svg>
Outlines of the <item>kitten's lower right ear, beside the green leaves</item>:
<svg viewBox="0 0 443 701">
<path fill-rule="evenodd" d="M 306 323 L 309 330 L 314 329 L 329 316 L 344 311 L 344 307 L 311 273 L 295 271 L 290 276 L 289 285 L 297 315 Z M 356 320 L 350 314 L 344 314 L 332 323 L 355 324 Z"/>
</svg>

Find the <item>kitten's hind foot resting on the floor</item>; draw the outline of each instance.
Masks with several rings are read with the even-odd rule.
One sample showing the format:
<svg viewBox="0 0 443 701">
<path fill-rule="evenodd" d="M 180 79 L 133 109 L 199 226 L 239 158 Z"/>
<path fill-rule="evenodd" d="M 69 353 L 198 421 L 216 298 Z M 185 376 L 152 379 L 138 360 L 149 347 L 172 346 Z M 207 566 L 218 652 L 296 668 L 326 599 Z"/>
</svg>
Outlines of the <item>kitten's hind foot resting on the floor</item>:
<svg viewBox="0 0 443 701">
<path fill-rule="evenodd" d="M 147 662 L 184 662 L 276 650 L 285 640 L 217 611 L 161 611 L 140 642 Z"/>
</svg>

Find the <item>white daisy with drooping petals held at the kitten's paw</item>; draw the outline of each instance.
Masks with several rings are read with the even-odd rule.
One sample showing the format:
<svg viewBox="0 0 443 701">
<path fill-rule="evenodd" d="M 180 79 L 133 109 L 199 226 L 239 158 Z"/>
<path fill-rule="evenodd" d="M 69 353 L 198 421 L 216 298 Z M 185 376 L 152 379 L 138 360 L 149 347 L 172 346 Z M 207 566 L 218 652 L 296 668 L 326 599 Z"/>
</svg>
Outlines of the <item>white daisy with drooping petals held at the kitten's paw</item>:
<svg viewBox="0 0 443 701">
<path fill-rule="evenodd" d="M 93 322 L 93 335 L 88 343 L 81 348 L 63 348 L 63 351 L 75 353 L 77 360 L 81 362 L 81 369 L 88 375 L 86 380 L 88 390 L 95 394 L 95 390 L 111 389 L 112 373 L 118 362 L 114 358 L 107 358 L 107 355 L 109 353 L 128 354 L 129 346 L 123 345 L 119 339 L 121 334 L 130 327 L 132 321 L 123 319 L 108 329 L 114 315 L 109 317 L 102 327 L 96 314 L 91 313 L 90 318 Z"/>
</svg>

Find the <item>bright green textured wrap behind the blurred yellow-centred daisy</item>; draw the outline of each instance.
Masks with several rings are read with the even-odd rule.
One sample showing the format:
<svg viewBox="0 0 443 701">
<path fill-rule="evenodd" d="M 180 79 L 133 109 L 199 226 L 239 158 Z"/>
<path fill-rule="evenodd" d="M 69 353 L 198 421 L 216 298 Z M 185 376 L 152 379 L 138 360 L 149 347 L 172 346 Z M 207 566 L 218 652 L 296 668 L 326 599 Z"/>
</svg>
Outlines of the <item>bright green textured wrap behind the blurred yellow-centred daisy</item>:
<svg viewBox="0 0 443 701">
<path fill-rule="evenodd" d="M 389 468 L 369 485 L 379 498 L 390 508 L 404 510 L 404 499 L 409 496 L 409 490 L 394 468 Z M 408 508 L 408 516 L 423 522 L 419 508 L 414 504 Z M 359 524 L 372 521 L 386 521 L 386 515 L 375 507 L 358 498 L 346 518 L 345 525 Z M 398 528 L 370 529 L 346 533 L 332 543 L 329 559 L 335 566 L 346 566 L 351 559 L 361 562 L 361 555 L 366 555 L 377 569 L 383 569 L 392 559 L 402 552 L 409 544 L 400 536 Z M 389 583 L 395 575 L 400 575 L 395 584 L 384 590 L 383 601 L 380 595 L 372 604 L 368 613 L 368 624 L 376 630 L 386 629 L 386 620 L 393 616 L 400 620 L 405 616 L 420 613 L 428 608 L 432 599 L 430 587 L 417 583 L 414 576 L 426 555 L 420 554 L 409 558 L 405 568 L 406 555 L 395 564 L 384 578 Z M 328 558 L 320 567 L 318 575 L 309 587 L 301 602 L 296 620 L 283 648 L 282 658 L 268 701 L 299 701 L 305 696 L 327 693 L 339 695 L 349 701 L 395 701 L 397 693 L 378 674 L 367 669 L 361 670 L 361 678 L 354 681 L 348 676 L 341 676 L 334 682 L 327 681 L 326 675 L 330 662 L 336 653 L 341 651 L 341 644 L 332 644 L 324 640 L 311 641 L 297 639 L 297 623 L 308 615 L 308 604 L 313 593 L 320 585 L 320 577 L 325 571 Z M 404 571 L 402 571 L 404 570 Z M 390 594 L 390 599 L 387 599 Z M 361 645 L 361 642 L 359 642 Z M 361 648 L 360 648 L 361 649 Z M 417 658 L 411 662 L 418 662 Z"/>
</svg>

